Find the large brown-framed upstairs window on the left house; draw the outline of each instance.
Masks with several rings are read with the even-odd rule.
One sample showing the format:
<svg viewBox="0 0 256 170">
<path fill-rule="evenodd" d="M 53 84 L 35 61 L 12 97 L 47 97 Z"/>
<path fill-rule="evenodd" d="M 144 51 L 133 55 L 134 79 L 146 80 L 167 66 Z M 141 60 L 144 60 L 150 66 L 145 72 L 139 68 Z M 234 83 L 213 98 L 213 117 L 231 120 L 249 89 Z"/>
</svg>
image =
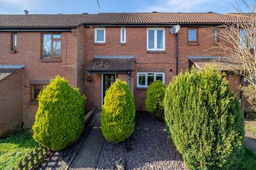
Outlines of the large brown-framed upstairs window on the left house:
<svg viewBox="0 0 256 170">
<path fill-rule="evenodd" d="M 43 34 L 43 58 L 61 56 L 61 35 Z"/>
</svg>

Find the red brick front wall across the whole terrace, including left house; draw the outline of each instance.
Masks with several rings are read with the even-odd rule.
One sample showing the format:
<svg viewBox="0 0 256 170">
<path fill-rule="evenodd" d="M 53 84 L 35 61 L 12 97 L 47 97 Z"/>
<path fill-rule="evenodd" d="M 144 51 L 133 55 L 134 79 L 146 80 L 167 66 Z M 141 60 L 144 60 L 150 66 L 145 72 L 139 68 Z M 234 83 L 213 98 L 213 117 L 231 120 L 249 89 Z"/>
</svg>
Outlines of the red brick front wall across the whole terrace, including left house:
<svg viewBox="0 0 256 170">
<path fill-rule="evenodd" d="M 56 75 L 65 77 L 69 84 L 78 87 L 85 94 L 86 111 L 101 107 L 101 74 L 92 74 L 88 82 L 87 66 L 94 55 L 135 55 L 135 71 L 131 76 L 131 89 L 138 110 L 145 109 L 146 89 L 137 88 L 138 68 L 164 69 L 165 84 L 175 75 L 175 35 L 165 28 L 165 52 L 147 52 L 147 28 L 127 27 L 126 44 L 120 43 L 120 28 L 106 28 L 106 43 L 94 44 L 94 28 L 80 27 L 72 32 L 62 32 L 61 62 L 41 62 L 41 32 L 18 32 L 17 53 L 10 53 L 11 32 L 0 32 L 0 64 L 26 64 L 23 79 L 23 122 L 25 126 L 34 123 L 37 106 L 31 105 L 30 80 L 49 80 Z M 198 45 L 187 43 L 187 28 L 179 31 L 179 70 L 188 69 L 188 56 L 212 55 L 213 29 L 198 28 Z M 170 69 L 173 71 L 170 72 Z M 127 74 L 117 75 L 126 80 Z"/>
</svg>

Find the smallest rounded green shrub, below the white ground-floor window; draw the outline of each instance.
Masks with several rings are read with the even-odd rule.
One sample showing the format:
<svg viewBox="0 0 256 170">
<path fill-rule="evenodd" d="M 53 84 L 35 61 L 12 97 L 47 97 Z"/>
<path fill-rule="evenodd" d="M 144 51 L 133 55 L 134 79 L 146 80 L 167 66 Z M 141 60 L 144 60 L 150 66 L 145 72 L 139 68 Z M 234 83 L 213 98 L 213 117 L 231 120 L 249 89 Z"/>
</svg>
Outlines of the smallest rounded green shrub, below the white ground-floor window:
<svg viewBox="0 0 256 170">
<path fill-rule="evenodd" d="M 165 86 L 161 80 L 154 81 L 147 89 L 146 109 L 157 120 L 164 120 L 164 95 Z"/>
</svg>

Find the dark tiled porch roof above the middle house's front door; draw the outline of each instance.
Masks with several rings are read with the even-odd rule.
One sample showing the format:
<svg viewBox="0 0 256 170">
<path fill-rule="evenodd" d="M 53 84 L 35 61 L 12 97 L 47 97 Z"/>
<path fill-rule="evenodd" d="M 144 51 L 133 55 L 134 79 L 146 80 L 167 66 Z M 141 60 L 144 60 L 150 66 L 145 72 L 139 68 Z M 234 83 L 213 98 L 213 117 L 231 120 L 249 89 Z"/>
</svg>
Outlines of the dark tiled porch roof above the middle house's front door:
<svg viewBox="0 0 256 170">
<path fill-rule="evenodd" d="M 134 71 L 133 56 L 100 56 L 94 57 L 87 71 L 89 72 L 126 72 Z"/>
</svg>

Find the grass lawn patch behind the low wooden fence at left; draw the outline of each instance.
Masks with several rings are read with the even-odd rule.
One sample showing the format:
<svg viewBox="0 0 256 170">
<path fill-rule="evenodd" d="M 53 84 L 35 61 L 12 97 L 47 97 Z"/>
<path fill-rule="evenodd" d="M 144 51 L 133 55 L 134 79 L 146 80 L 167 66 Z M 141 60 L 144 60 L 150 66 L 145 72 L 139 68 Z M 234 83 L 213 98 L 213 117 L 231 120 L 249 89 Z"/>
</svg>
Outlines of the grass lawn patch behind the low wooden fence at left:
<svg viewBox="0 0 256 170">
<path fill-rule="evenodd" d="M 31 132 L 20 130 L 4 139 L 0 139 L 0 169 L 18 168 L 19 162 L 29 156 L 31 150 L 39 145 L 32 138 Z"/>
</svg>

